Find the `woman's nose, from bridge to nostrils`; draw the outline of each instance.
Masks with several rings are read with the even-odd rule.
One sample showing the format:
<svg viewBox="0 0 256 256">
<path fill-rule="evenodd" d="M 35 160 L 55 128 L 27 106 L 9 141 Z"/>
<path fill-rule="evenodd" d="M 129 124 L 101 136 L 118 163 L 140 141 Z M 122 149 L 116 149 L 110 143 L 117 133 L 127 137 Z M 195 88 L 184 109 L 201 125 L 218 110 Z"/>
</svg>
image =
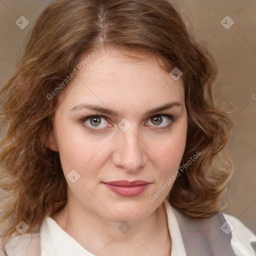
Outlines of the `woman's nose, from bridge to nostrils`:
<svg viewBox="0 0 256 256">
<path fill-rule="evenodd" d="M 118 129 L 114 145 L 112 161 L 116 167 L 135 172 L 146 164 L 146 146 L 132 127 L 127 131 Z"/>
</svg>

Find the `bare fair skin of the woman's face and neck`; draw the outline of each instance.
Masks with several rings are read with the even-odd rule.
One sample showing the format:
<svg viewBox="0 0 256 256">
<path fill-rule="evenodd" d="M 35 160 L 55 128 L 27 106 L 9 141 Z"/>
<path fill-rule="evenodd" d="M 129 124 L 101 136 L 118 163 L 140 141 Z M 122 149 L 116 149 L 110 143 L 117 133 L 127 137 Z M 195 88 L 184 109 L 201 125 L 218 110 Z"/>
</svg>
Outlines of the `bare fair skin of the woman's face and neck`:
<svg viewBox="0 0 256 256">
<path fill-rule="evenodd" d="M 162 202 L 171 185 L 154 202 L 148 198 L 175 174 L 185 149 L 184 87 L 181 79 L 173 80 L 149 53 L 140 54 L 144 59 L 134 60 L 118 50 L 100 49 L 57 95 L 53 130 L 47 139 L 48 147 L 59 152 L 68 184 L 67 204 L 52 218 L 84 248 L 100 256 L 170 255 Z M 146 114 L 170 101 L 181 106 Z M 120 116 L 87 108 L 70 110 L 83 103 L 113 109 Z M 89 115 L 105 117 L 93 126 L 91 119 L 81 121 Z M 153 115 L 162 119 L 154 120 Z M 126 131 L 118 126 L 123 118 L 131 124 Z M 74 183 L 67 178 L 72 169 L 80 175 Z M 137 196 L 116 194 L 102 183 L 137 179 L 150 182 Z M 118 228 L 123 221 L 131 227 L 126 234 Z"/>
</svg>

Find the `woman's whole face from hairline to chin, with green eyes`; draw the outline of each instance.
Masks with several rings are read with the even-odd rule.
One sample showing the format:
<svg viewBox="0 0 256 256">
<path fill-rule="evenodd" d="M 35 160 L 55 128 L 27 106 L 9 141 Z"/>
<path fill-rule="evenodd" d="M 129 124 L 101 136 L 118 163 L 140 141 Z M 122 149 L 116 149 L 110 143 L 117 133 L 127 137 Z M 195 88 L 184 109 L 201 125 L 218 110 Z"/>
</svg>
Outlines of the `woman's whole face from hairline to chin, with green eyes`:
<svg viewBox="0 0 256 256">
<path fill-rule="evenodd" d="M 59 152 L 67 204 L 79 212 L 137 222 L 171 189 L 186 141 L 184 88 L 147 56 L 102 49 L 57 95 L 48 145 Z M 109 184 L 119 180 L 144 184 Z"/>
</svg>

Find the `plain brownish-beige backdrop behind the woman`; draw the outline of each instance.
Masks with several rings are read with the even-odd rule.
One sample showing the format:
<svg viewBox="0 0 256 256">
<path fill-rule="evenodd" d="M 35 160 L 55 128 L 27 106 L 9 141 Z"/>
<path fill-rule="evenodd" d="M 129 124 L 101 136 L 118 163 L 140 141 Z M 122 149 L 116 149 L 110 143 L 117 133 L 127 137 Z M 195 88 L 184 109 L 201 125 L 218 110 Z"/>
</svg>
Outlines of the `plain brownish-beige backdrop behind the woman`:
<svg viewBox="0 0 256 256">
<path fill-rule="evenodd" d="M 47 0 L 0 0 L 0 85 L 12 73 L 37 15 Z M 208 43 L 220 75 L 218 92 L 222 107 L 235 124 L 228 143 L 234 163 L 226 213 L 238 217 L 256 233 L 256 1 L 173 0 L 188 17 L 196 34 Z M 29 24 L 20 29 L 15 21 L 25 16 Z M 229 16 L 234 24 L 226 29 L 221 20 Z M 229 24 L 229 21 L 225 21 Z M 255 98 L 256 98 L 256 94 Z"/>
</svg>

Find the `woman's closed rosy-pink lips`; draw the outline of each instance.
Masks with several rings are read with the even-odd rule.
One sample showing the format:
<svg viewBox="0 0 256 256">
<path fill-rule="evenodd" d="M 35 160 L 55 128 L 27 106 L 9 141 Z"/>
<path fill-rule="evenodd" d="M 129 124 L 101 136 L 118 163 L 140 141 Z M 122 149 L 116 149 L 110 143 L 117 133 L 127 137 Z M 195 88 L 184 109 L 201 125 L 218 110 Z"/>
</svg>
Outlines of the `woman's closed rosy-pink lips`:
<svg viewBox="0 0 256 256">
<path fill-rule="evenodd" d="M 119 195 L 136 196 L 142 193 L 150 183 L 143 180 L 116 180 L 110 182 L 103 182 L 103 184 L 111 191 Z"/>
</svg>

